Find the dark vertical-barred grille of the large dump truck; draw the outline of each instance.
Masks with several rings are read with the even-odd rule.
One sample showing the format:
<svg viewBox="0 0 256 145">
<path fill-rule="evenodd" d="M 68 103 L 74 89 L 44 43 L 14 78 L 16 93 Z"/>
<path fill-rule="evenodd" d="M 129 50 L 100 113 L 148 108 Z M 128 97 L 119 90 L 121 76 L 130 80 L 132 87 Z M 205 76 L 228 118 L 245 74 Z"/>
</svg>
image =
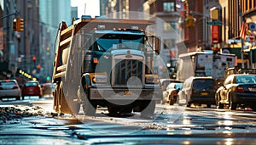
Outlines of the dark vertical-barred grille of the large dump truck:
<svg viewBox="0 0 256 145">
<path fill-rule="evenodd" d="M 113 85 L 127 85 L 131 76 L 137 76 L 143 82 L 143 62 L 137 59 L 115 59 Z"/>
</svg>

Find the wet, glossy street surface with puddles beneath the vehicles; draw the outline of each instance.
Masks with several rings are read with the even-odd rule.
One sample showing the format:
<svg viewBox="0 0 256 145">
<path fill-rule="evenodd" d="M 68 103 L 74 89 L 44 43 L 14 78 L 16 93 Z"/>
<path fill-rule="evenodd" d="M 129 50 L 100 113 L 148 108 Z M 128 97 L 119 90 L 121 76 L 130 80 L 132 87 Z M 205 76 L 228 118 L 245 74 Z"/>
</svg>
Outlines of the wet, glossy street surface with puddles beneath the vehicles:
<svg viewBox="0 0 256 145">
<path fill-rule="evenodd" d="M 256 114 L 246 109 L 230 111 L 216 109 L 215 106 L 207 109 L 158 104 L 154 116 L 144 119 L 133 113 L 108 116 L 108 109 L 104 108 L 98 109 L 96 116 L 85 116 L 82 111 L 78 115 L 55 114 L 51 109 L 51 99 L 11 103 L 16 110 L 31 108 L 36 113 L 2 122 L 1 144 L 109 143 L 109 138 L 111 142 L 120 144 L 256 142 Z M 7 102 L 0 104 L 2 108 L 7 107 Z"/>
</svg>

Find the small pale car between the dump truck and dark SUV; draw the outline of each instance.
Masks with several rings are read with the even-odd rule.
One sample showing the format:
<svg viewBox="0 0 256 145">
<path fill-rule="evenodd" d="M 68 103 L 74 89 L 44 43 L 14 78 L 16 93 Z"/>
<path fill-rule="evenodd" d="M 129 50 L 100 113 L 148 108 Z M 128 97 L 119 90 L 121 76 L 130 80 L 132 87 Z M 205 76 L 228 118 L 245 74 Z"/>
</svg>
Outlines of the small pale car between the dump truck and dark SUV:
<svg viewBox="0 0 256 145">
<path fill-rule="evenodd" d="M 183 87 L 183 82 L 171 82 L 163 92 L 163 102 L 173 105 L 177 103 L 177 92 Z"/>
</svg>

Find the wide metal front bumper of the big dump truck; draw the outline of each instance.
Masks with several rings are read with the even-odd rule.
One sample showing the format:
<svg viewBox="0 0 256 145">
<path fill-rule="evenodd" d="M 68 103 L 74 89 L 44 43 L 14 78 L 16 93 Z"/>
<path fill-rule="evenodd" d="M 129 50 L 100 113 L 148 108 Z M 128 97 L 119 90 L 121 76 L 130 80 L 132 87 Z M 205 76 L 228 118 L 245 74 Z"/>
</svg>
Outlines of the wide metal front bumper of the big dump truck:
<svg viewBox="0 0 256 145">
<path fill-rule="evenodd" d="M 90 100 L 162 100 L 161 88 L 90 88 Z"/>
</svg>

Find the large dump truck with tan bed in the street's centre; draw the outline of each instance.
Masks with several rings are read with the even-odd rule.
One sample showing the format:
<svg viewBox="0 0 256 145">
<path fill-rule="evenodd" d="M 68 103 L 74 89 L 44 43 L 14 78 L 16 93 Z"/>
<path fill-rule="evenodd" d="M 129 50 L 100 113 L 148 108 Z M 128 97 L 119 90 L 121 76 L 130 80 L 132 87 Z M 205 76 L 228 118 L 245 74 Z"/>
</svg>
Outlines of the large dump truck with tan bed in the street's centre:
<svg viewBox="0 0 256 145">
<path fill-rule="evenodd" d="M 154 20 L 91 18 L 62 21 L 55 38 L 52 81 L 57 113 L 152 115 L 162 99 L 154 58 L 160 37 L 146 31 Z M 153 26 L 154 27 L 154 26 Z"/>
</svg>

